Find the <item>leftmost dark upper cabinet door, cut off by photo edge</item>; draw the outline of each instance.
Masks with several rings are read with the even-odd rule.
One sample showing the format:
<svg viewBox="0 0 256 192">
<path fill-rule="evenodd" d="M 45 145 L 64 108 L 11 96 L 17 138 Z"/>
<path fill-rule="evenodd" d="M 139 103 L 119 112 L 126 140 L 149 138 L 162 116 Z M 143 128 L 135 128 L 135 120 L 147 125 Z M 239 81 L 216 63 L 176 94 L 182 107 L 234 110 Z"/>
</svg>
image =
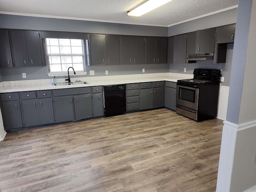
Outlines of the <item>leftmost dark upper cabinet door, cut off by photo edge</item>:
<svg viewBox="0 0 256 192">
<path fill-rule="evenodd" d="M 9 34 L 7 29 L 0 30 L 0 42 L 0 67 L 13 67 Z"/>
</svg>

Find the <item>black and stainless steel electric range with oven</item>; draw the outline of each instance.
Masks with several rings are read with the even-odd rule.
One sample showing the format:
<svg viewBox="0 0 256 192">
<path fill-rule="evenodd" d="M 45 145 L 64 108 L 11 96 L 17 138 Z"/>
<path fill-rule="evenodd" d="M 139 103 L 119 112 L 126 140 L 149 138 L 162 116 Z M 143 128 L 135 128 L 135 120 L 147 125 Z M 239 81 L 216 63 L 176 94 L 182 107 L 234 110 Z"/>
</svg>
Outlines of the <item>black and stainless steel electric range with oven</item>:
<svg viewBox="0 0 256 192">
<path fill-rule="evenodd" d="M 196 121 L 215 118 L 220 70 L 194 69 L 193 74 L 193 79 L 177 81 L 176 113 Z"/>
</svg>

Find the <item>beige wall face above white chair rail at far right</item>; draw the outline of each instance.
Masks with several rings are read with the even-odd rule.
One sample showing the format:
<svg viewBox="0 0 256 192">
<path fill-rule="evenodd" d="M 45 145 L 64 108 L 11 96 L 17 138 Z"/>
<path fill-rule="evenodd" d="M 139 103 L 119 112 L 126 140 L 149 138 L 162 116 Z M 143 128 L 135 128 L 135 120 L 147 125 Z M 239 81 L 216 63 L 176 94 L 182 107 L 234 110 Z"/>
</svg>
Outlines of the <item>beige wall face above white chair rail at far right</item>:
<svg viewBox="0 0 256 192">
<path fill-rule="evenodd" d="M 238 124 L 256 120 L 256 0 L 252 4 L 252 16 L 248 37 L 244 84 Z"/>
</svg>

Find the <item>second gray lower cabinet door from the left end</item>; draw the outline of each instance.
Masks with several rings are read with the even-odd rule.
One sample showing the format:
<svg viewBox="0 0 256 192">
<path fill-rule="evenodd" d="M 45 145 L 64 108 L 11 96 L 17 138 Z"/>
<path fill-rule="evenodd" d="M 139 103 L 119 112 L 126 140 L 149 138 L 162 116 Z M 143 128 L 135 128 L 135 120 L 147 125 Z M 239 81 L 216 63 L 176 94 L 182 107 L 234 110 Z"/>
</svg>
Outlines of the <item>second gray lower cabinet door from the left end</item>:
<svg viewBox="0 0 256 192">
<path fill-rule="evenodd" d="M 40 125 L 37 101 L 36 99 L 22 100 L 25 127 Z"/>
</svg>

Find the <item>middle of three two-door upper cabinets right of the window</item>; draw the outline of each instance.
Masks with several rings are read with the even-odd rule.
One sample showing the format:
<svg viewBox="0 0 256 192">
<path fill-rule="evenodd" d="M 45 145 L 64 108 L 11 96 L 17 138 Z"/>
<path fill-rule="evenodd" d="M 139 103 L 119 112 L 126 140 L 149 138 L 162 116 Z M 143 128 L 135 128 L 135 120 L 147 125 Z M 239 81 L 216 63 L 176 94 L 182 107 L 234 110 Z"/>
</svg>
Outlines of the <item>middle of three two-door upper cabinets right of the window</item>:
<svg viewBox="0 0 256 192">
<path fill-rule="evenodd" d="M 121 64 L 144 64 L 144 37 L 120 36 Z"/>
</svg>

